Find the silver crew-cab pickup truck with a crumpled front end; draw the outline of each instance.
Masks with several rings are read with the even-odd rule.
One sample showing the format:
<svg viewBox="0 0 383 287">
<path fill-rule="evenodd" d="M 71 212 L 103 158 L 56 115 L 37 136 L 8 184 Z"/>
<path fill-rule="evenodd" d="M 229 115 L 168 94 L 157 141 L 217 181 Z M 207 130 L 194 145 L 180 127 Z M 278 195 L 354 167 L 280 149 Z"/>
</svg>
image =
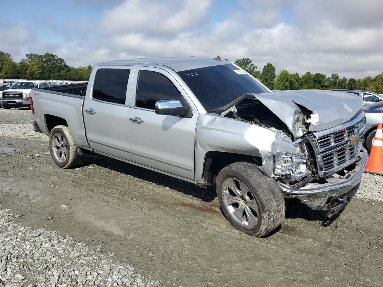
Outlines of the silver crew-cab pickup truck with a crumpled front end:
<svg viewBox="0 0 383 287">
<path fill-rule="evenodd" d="M 88 83 L 34 89 L 30 101 L 59 167 L 88 150 L 214 186 L 224 216 L 255 236 L 281 224 L 286 197 L 339 214 L 367 160 L 360 97 L 270 93 L 219 57 L 105 62 Z"/>
</svg>

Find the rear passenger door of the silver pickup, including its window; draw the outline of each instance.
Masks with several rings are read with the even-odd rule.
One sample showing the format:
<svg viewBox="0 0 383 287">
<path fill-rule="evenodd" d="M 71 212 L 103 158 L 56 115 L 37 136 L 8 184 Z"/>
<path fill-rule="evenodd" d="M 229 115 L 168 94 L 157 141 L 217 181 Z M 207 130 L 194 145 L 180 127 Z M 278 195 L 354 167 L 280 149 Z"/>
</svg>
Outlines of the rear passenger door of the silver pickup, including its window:
<svg viewBox="0 0 383 287">
<path fill-rule="evenodd" d="M 98 66 L 83 106 L 90 147 L 125 160 L 131 160 L 127 121 L 133 73 L 131 66 Z"/>
</svg>

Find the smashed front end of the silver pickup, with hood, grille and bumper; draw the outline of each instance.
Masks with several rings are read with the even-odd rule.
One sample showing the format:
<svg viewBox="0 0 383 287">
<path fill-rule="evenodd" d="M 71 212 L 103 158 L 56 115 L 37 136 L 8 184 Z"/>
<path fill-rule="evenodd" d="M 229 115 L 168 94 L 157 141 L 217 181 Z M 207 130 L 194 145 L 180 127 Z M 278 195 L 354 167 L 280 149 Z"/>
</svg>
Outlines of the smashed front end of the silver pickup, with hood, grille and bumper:
<svg viewBox="0 0 383 287">
<path fill-rule="evenodd" d="M 361 106 L 344 93 L 286 91 L 244 95 L 221 115 L 275 130 L 280 140 L 259 149 L 260 170 L 285 197 L 334 212 L 355 194 L 367 161 Z"/>
</svg>

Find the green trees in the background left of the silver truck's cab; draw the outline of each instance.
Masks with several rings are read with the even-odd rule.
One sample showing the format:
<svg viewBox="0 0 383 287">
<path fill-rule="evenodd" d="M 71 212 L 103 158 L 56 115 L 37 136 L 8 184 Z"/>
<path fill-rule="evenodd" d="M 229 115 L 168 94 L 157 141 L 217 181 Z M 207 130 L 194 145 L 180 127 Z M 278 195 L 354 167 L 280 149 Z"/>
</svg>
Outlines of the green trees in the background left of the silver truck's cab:
<svg viewBox="0 0 383 287">
<path fill-rule="evenodd" d="M 9 53 L 0 51 L 0 78 L 30 80 L 76 80 L 87 81 L 92 66 L 70 67 L 64 59 L 52 53 L 26 54 L 16 63 Z"/>
</svg>

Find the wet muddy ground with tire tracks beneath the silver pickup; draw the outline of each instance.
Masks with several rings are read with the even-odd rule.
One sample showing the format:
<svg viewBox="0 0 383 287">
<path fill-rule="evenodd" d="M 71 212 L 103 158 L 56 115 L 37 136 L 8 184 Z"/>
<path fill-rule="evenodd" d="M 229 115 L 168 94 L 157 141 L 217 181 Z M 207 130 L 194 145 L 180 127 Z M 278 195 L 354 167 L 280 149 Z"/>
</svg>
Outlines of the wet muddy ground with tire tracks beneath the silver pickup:
<svg viewBox="0 0 383 287">
<path fill-rule="evenodd" d="M 256 238 L 231 227 L 211 190 L 96 154 L 58 168 L 44 137 L 4 132 L 31 119 L 0 109 L 0 202 L 23 225 L 102 245 L 165 286 L 383 285 L 382 202 L 354 198 L 329 227 L 293 202 L 282 227 Z"/>
</svg>

